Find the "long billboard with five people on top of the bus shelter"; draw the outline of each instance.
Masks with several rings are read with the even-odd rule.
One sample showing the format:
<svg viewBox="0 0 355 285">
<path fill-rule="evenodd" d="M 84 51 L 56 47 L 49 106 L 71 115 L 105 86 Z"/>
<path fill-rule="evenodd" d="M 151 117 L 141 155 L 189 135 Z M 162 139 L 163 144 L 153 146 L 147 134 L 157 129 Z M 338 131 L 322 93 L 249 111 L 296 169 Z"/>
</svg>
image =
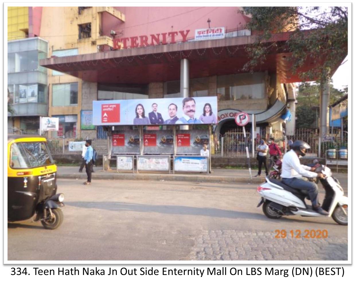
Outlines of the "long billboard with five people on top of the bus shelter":
<svg viewBox="0 0 355 285">
<path fill-rule="evenodd" d="M 217 96 L 93 101 L 93 125 L 217 124 Z"/>
</svg>

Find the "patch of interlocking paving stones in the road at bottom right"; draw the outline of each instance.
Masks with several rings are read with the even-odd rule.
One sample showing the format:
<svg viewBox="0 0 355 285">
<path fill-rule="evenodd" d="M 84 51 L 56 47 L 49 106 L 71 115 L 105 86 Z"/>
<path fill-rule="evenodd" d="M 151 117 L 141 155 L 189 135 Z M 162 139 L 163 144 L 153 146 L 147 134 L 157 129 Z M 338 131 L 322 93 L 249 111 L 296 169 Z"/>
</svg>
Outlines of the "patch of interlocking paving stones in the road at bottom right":
<svg viewBox="0 0 355 285">
<path fill-rule="evenodd" d="M 197 236 L 193 260 L 347 260 L 348 239 L 274 238 L 266 231 L 205 230 Z"/>
</svg>

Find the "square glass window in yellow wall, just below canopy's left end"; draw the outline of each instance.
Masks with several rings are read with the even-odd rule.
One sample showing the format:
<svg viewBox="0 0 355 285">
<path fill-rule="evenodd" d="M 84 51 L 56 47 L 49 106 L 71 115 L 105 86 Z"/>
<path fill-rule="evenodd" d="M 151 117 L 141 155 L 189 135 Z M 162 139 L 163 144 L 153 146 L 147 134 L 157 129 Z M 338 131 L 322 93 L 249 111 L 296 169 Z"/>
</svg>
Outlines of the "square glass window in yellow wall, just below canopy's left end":
<svg viewBox="0 0 355 285">
<path fill-rule="evenodd" d="M 53 84 L 52 106 L 70 106 L 78 104 L 78 83 Z"/>
</svg>

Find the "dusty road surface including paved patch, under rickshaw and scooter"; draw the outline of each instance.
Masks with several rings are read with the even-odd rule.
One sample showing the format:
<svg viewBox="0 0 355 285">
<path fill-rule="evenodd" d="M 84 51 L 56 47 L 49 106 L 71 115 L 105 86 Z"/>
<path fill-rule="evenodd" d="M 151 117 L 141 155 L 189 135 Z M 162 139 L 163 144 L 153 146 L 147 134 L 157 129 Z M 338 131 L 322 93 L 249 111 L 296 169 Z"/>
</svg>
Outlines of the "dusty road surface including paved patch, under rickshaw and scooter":
<svg viewBox="0 0 355 285">
<path fill-rule="evenodd" d="M 268 219 L 256 208 L 256 184 L 82 182 L 58 180 L 66 205 L 60 228 L 8 224 L 8 260 L 347 259 L 348 227 L 327 217 Z M 282 229 L 286 238 L 275 238 Z M 304 238 L 312 229 L 328 237 Z M 301 238 L 290 230 L 300 230 Z"/>
</svg>

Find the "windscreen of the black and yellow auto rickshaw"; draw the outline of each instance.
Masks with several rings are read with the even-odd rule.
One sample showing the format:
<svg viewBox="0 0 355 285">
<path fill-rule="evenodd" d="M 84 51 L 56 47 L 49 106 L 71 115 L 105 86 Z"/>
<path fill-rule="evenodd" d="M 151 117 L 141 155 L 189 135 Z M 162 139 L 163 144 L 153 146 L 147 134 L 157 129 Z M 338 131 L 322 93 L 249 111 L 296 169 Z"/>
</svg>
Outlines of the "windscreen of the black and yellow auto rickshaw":
<svg viewBox="0 0 355 285">
<path fill-rule="evenodd" d="M 44 142 L 15 143 L 11 146 L 11 168 L 34 168 L 54 164 Z"/>
</svg>

